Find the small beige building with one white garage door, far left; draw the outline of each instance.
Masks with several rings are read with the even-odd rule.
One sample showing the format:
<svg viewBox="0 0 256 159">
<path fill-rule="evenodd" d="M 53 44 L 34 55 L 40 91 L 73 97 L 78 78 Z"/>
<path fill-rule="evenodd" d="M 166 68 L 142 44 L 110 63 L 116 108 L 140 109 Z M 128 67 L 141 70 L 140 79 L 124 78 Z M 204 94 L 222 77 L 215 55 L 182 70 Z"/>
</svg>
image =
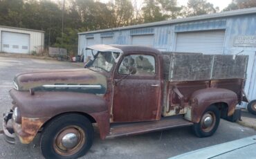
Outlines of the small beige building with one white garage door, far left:
<svg viewBox="0 0 256 159">
<path fill-rule="evenodd" d="M 38 53 L 44 48 L 44 31 L 0 26 L 1 53 Z"/>
</svg>

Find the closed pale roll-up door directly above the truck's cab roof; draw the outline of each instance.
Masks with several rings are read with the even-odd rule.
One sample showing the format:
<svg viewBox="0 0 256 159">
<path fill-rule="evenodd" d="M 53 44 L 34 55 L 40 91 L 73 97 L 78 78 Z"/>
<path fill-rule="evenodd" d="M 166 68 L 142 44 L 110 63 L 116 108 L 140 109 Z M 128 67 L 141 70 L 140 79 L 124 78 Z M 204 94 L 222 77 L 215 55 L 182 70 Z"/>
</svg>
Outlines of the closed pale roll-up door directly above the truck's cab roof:
<svg viewBox="0 0 256 159">
<path fill-rule="evenodd" d="M 154 35 L 133 35 L 131 37 L 131 44 L 138 46 L 153 46 Z"/>
</svg>

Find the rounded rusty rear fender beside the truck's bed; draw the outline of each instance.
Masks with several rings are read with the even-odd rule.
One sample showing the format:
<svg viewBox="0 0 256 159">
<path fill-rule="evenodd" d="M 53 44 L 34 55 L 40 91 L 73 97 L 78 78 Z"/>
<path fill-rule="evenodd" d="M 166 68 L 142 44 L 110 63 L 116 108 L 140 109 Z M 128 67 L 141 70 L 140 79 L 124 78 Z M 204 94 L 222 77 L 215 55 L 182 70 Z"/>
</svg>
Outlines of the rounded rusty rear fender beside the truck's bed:
<svg viewBox="0 0 256 159">
<path fill-rule="evenodd" d="M 201 116 L 208 106 L 216 103 L 225 103 L 228 105 L 228 116 L 235 112 L 237 105 L 237 94 L 224 88 L 205 88 L 195 91 L 191 98 L 191 106 L 185 118 L 192 122 L 200 122 Z"/>
</svg>

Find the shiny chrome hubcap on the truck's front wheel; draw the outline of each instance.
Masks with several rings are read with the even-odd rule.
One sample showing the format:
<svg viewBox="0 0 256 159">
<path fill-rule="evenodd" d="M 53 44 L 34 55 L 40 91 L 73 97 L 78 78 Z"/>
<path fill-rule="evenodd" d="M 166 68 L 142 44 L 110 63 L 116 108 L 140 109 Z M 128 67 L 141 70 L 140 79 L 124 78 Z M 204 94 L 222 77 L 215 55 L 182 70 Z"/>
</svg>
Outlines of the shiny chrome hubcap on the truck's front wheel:
<svg viewBox="0 0 256 159">
<path fill-rule="evenodd" d="M 77 145 L 78 138 L 75 133 L 67 133 L 62 138 L 62 145 L 67 149 L 71 149 Z"/>
</svg>

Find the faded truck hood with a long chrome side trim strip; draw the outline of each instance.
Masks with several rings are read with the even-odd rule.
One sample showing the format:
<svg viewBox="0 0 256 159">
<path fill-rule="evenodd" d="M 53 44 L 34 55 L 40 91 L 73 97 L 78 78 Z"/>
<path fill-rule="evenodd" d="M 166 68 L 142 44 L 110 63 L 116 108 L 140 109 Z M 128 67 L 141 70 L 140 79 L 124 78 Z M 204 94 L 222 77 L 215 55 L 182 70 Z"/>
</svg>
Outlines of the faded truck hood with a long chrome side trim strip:
<svg viewBox="0 0 256 159">
<path fill-rule="evenodd" d="M 44 72 L 21 73 L 15 76 L 18 91 L 76 91 L 104 94 L 107 79 L 100 73 L 86 68 L 51 70 Z"/>
</svg>

